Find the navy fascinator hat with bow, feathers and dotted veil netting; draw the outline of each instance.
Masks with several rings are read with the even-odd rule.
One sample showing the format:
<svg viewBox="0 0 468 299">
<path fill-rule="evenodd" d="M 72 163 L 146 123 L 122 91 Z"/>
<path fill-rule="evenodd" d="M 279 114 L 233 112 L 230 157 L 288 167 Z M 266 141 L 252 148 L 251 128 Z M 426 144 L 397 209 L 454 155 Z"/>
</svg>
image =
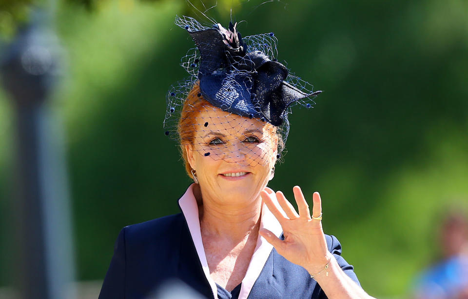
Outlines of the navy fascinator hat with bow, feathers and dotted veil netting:
<svg viewBox="0 0 468 299">
<path fill-rule="evenodd" d="M 181 65 L 191 75 L 171 86 L 167 96 L 165 127 L 173 129 L 177 113 L 196 82 L 201 95 L 213 106 L 243 117 L 267 121 L 289 132 L 288 114 L 294 104 L 311 108 L 322 91 L 294 76 L 278 62 L 273 32 L 242 38 L 237 23 L 226 29 L 216 23 L 203 26 L 193 18 L 176 17 L 176 25 L 187 30 L 196 48 L 188 51 Z M 173 124 L 173 125 L 171 125 Z M 166 135 L 176 130 L 166 131 Z"/>
</svg>

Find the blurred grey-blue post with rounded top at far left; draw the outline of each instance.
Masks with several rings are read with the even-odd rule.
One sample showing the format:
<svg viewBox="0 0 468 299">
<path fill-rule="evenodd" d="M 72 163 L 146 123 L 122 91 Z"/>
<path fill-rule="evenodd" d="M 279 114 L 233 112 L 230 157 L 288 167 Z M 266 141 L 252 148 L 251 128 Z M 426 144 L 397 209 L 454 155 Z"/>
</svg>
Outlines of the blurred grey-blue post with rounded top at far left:
<svg viewBox="0 0 468 299">
<path fill-rule="evenodd" d="M 63 134 L 47 106 L 61 51 L 48 18 L 36 9 L 1 61 L 2 83 L 16 114 L 12 230 L 16 282 L 24 299 L 74 297 L 69 290 L 74 263 Z"/>
</svg>

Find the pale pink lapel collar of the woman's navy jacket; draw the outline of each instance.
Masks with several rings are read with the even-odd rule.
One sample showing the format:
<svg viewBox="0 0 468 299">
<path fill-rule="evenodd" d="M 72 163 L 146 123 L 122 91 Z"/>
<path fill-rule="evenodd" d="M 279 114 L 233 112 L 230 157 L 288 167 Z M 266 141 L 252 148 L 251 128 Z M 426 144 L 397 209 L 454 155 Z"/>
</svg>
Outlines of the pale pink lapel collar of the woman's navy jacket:
<svg viewBox="0 0 468 299">
<path fill-rule="evenodd" d="M 198 254 L 198 259 L 200 259 L 201 266 L 203 267 L 203 272 L 205 273 L 206 279 L 210 283 L 211 289 L 213 290 L 214 299 L 217 299 L 217 289 L 215 280 L 210 276 L 210 269 L 208 268 L 208 262 L 206 261 L 205 249 L 203 248 L 203 242 L 201 239 L 200 231 L 200 219 L 198 219 L 198 205 L 195 200 L 193 193 L 193 187 L 195 184 L 189 186 L 185 194 L 179 199 L 179 206 L 184 214 L 184 217 L 187 221 L 189 227 L 190 235 L 195 244 L 196 253 Z M 269 192 L 270 197 L 273 199 L 273 202 L 279 206 L 276 196 L 272 189 L 266 187 L 265 190 Z M 281 211 L 281 209 L 280 209 Z M 266 228 L 273 232 L 276 237 L 281 236 L 283 229 L 279 224 L 278 220 L 273 216 L 272 212 L 267 208 L 265 204 L 262 207 L 262 216 L 260 219 L 260 228 Z M 247 299 L 254 286 L 255 280 L 257 280 L 260 272 L 265 265 L 270 253 L 273 249 L 273 245 L 268 243 L 266 239 L 258 236 L 257 246 L 255 247 L 254 254 L 250 260 L 249 267 L 247 268 L 247 273 L 245 274 L 244 279 L 242 279 L 242 286 L 239 293 L 239 299 Z"/>
</svg>

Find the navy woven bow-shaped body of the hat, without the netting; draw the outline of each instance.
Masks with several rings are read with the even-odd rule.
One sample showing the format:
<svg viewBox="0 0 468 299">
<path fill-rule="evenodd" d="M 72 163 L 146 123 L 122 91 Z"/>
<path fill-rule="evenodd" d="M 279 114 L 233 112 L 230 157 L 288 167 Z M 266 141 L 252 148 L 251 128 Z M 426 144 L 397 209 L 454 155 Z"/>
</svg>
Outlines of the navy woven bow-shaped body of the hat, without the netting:
<svg viewBox="0 0 468 299">
<path fill-rule="evenodd" d="M 240 116 L 258 118 L 280 126 L 294 102 L 321 93 L 304 93 L 286 82 L 288 69 L 261 51 L 246 53 L 236 30 L 220 24 L 190 31 L 200 51 L 198 79 L 205 100 Z"/>
</svg>

